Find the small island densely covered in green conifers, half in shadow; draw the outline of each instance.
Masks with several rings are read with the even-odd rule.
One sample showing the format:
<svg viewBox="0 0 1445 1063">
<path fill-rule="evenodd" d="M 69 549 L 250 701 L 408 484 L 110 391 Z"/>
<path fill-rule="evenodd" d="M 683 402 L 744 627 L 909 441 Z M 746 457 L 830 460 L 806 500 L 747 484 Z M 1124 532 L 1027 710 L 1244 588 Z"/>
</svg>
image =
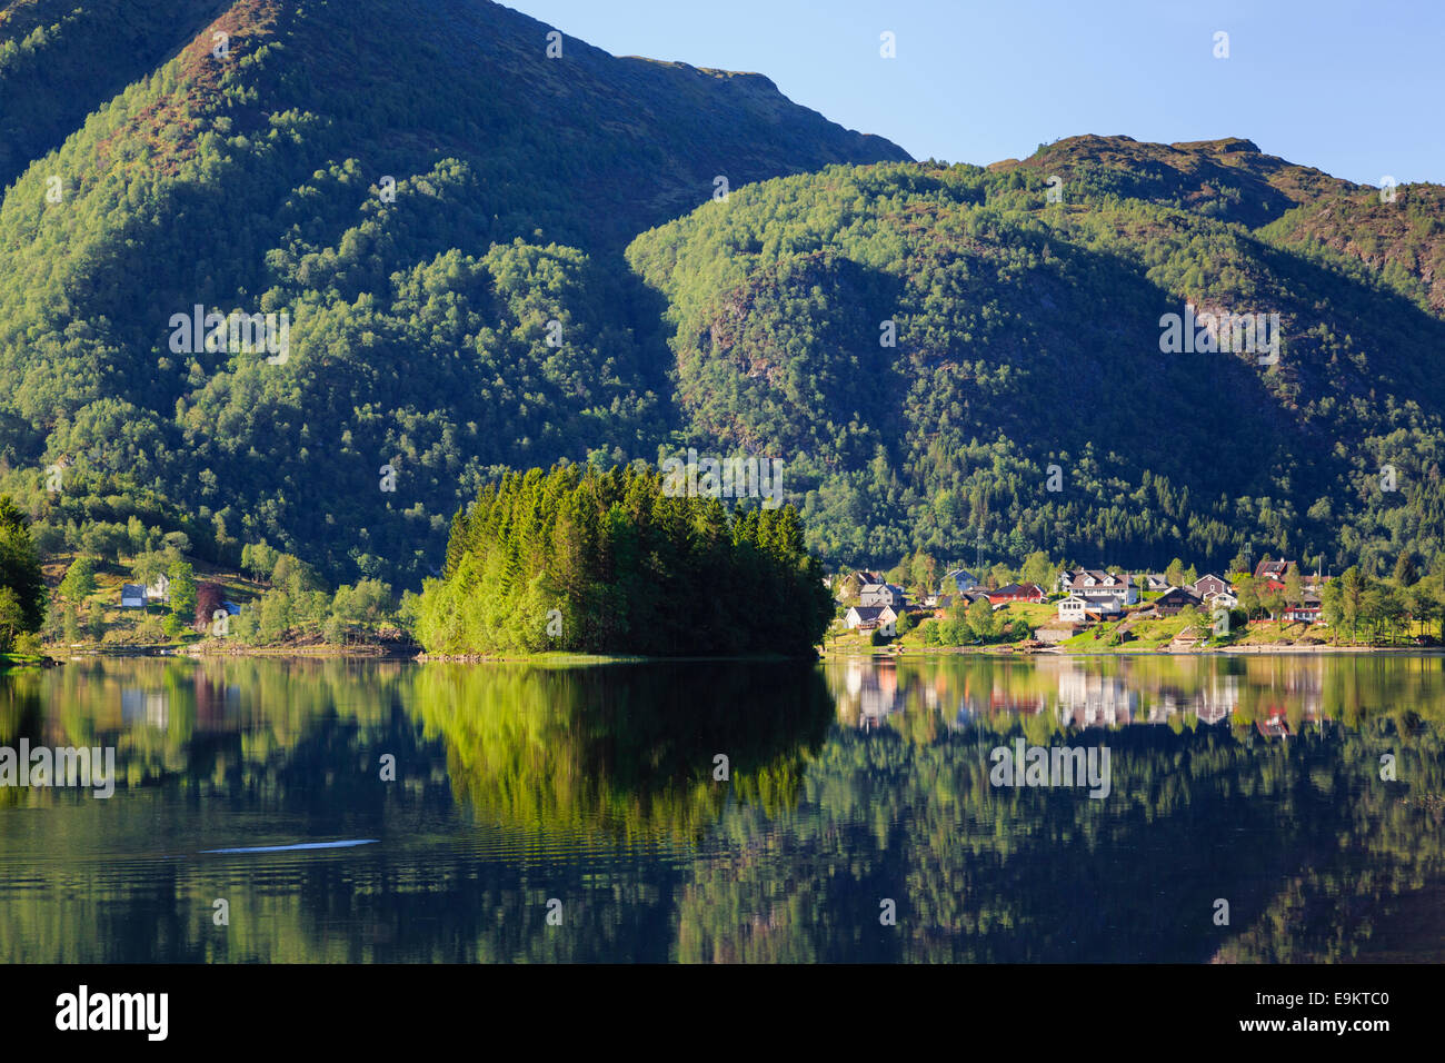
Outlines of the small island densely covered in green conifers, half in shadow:
<svg viewBox="0 0 1445 1063">
<path fill-rule="evenodd" d="M 415 602 L 431 655 L 811 657 L 832 619 L 793 506 L 673 495 L 653 469 L 509 473 L 452 518 Z"/>
</svg>

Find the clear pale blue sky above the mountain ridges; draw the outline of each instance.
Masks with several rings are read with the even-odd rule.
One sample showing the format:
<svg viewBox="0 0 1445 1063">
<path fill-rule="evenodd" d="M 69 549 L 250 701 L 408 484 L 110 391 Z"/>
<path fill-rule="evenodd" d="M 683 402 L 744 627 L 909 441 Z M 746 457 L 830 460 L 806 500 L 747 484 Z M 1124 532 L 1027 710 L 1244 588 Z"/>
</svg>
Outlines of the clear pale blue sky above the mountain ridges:
<svg viewBox="0 0 1445 1063">
<path fill-rule="evenodd" d="M 1241 136 L 1445 184 L 1445 0 L 509 0 L 613 55 L 756 71 L 915 158 Z M 892 30 L 897 58 L 879 56 Z M 1230 58 L 1214 58 L 1214 33 Z"/>
</svg>

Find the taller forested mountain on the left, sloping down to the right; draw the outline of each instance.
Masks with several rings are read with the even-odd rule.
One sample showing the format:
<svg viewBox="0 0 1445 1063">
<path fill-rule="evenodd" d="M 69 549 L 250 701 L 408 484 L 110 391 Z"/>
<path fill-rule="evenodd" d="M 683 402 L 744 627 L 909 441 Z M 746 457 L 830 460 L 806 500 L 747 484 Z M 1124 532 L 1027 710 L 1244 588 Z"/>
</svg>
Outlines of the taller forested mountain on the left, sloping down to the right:
<svg viewBox="0 0 1445 1063">
<path fill-rule="evenodd" d="M 27 153 L 0 158 L 9 486 L 51 528 L 139 509 L 337 577 L 415 579 L 496 467 L 653 454 L 668 353 L 636 233 L 718 178 L 909 158 L 764 77 L 484 0 L 42 0 L 0 33 Z M 272 346 L 189 343 L 195 307 L 273 315 Z"/>
</svg>

